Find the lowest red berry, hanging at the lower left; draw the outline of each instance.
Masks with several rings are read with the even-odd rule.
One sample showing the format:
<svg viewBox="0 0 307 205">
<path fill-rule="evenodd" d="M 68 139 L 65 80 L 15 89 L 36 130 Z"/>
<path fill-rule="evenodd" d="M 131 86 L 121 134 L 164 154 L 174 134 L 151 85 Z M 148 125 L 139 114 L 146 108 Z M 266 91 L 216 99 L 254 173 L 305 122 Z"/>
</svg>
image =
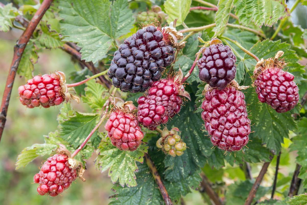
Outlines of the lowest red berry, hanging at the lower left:
<svg viewBox="0 0 307 205">
<path fill-rule="evenodd" d="M 37 188 L 39 195 L 57 196 L 67 189 L 72 181 L 77 178 L 76 169 L 69 168 L 68 157 L 56 154 L 48 158 L 41 171 L 34 175 L 34 183 L 40 186 Z"/>
</svg>

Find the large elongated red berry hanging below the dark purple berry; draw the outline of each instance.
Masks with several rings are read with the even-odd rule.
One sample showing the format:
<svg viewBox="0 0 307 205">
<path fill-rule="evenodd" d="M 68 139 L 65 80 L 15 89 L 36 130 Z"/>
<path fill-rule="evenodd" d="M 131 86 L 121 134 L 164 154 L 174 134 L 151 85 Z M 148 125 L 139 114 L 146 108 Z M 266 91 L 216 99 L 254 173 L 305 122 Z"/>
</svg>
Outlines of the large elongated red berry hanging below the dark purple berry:
<svg viewBox="0 0 307 205">
<path fill-rule="evenodd" d="M 244 94 L 235 87 L 209 88 L 201 108 L 205 128 L 214 146 L 225 151 L 239 151 L 248 143 L 251 120 L 247 117 Z"/>
</svg>

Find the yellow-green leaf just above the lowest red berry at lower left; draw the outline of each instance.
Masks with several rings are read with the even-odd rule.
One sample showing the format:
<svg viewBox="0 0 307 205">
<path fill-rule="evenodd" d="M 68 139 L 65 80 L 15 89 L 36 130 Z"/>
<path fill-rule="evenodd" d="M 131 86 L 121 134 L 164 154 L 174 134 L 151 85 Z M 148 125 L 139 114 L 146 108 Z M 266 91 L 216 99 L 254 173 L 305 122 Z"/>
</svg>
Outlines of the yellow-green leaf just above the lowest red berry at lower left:
<svg viewBox="0 0 307 205">
<path fill-rule="evenodd" d="M 38 156 L 50 155 L 55 151 L 58 145 L 56 144 L 33 144 L 31 147 L 24 148 L 17 157 L 15 164 L 16 169 L 25 167 Z"/>
</svg>

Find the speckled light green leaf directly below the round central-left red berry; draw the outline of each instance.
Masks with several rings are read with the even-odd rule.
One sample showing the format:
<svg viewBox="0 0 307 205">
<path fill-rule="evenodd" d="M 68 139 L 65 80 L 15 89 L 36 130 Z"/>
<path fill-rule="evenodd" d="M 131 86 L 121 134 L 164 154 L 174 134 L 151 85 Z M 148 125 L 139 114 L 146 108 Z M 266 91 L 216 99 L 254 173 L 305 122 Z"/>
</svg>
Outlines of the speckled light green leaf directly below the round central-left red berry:
<svg viewBox="0 0 307 205">
<path fill-rule="evenodd" d="M 144 153 L 147 152 L 148 147 L 142 143 L 137 150 L 122 151 L 115 147 L 110 139 L 104 140 L 100 143 L 97 150 L 96 169 L 101 172 L 109 169 L 108 176 L 113 183 L 119 180 L 122 187 L 135 187 L 137 185 L 136 176 L 134 172 L 138 171 L 136 161 L 143 163 Z M 140 185 L 139 185 L 140 186 Z"/>
</svg>

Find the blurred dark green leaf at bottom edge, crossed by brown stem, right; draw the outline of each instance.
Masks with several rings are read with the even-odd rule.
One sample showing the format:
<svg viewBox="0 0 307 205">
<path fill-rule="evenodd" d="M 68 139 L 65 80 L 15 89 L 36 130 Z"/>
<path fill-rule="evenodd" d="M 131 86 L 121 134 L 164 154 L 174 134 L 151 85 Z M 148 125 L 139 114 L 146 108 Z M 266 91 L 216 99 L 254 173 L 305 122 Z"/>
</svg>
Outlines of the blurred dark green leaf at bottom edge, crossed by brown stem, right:
<svg viewBox="0 0 307 205">
<path fill-rule="evenodd" d="M 253 183 L 250 180 L 246 180 L 243 182 L 235 182 L 228 186 L 228 191 L 226 192 L 225 196 L 225 198 L 227 199 L 226 205 L 244 204 L 252 186 Z M 256 202 L 263 195 L 265 195 L 268 189 L 268 187 L 259 186 L 253 202 Z"/>
</svg>

